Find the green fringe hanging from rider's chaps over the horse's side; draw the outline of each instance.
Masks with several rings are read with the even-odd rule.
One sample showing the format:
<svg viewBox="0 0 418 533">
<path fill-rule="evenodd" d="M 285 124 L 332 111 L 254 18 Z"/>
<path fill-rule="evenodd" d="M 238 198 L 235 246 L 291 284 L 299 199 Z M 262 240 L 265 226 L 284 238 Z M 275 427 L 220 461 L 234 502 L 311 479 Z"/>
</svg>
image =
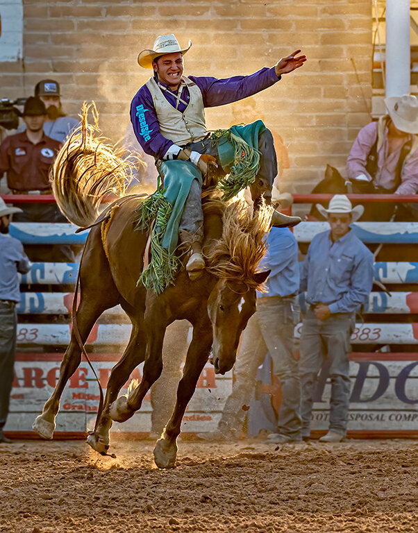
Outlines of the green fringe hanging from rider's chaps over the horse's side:
<svg viewBox="0 0 418 533">
<path fill-rule="evenodd" d="M 181 264 L 181 260 L 174 253 L 162 247 L 162 239 L 172 210 L 172 205 L 163 196 L 162 189 L 154 192 L 137 208 L 139 219 L 135 229 L 149 231 L 153 220 L 156 221 L 151 235 L 151 261 L 137 280 L 137 286 L 142 283 L 146 289 L 156 294 L 162 293 L 168 285 L 174 285 L 175 274 Z"/>
</svg>

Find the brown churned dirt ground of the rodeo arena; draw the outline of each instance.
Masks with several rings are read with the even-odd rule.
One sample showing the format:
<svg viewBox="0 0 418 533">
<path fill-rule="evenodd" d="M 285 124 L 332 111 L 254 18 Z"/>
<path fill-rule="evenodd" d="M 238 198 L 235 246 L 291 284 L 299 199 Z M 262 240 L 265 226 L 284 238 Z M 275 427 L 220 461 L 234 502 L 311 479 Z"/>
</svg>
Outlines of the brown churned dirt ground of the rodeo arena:
<svg viewBox="0 0 418 533">
<path fill-rule="evenodd" d="M 418 532 L 418 441 L 179 447 L 160 471 L 151 441 L 115 442 L 116 459 L 1 444 L 0 531 Z"/>
</svg>

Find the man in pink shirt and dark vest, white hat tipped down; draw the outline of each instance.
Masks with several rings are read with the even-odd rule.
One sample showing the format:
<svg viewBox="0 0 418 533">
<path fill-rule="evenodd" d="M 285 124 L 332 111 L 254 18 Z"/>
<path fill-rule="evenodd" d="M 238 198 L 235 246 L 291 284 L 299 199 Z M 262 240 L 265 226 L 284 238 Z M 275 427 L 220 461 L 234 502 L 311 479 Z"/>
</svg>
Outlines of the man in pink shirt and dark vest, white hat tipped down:
<svg viewBox="0 0 418 533">
<path fill-rule="evenodd" d="M 387 115 L 358 133 L 347 159 L 347 175 L 353 192 L 416 194 L 418 100 L 406 94 L 391 96 L 385 104 Z"/>
</svg>

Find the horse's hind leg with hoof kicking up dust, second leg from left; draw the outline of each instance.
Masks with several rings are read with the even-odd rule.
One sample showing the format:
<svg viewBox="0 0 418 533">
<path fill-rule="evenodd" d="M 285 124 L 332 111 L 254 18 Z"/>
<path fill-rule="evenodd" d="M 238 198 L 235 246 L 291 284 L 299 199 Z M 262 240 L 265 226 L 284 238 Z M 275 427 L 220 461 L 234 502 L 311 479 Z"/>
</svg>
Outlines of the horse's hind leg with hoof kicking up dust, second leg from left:
<svg viewBox="0 0 418 533">
<path fill-rule="evenodd" d="M 110 404 L 114 402 L 122 389 L 126 380 L 135 367 L 144 361 L 145 355 L 145 335 L 142 330 L 138 330 L 135 325 L 129 339 L 128 346 L 120 361 L 115 364 L 110 373 L 106 397 L 103 403 L 103 411 L 97 423 L 97 428 L 87 438 L 87 443 L 99 453 L 107 452 L 110 447 L 109 431 L 112 427 L 110 417 Z"/>
</svg>

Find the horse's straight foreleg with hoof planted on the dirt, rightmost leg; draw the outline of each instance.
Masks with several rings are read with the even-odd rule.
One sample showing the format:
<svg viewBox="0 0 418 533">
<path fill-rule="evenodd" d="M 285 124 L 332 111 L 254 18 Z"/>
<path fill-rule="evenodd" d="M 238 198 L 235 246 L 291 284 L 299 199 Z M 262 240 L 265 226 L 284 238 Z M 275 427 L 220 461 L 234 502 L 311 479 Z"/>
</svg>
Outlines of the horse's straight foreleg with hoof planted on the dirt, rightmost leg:
<svg viewBox="0 0 418 533">
<path fill-rule="evenodd" d="M 181 431 L 181 421 L 196 389 L 203 366 L 208 361 L 210 346 L 212 346 L 212 327 L 208 322 L 202 328 L 193 329 L 193 339 L 187 350 L 183 378 L 178 384 L 176 406 L 172 418 L 169 419 L 161 439 L 154 448 L 154 460 L 158 468 L 174 468 L 178 450 L 176 441 Z"/>
</svg>

